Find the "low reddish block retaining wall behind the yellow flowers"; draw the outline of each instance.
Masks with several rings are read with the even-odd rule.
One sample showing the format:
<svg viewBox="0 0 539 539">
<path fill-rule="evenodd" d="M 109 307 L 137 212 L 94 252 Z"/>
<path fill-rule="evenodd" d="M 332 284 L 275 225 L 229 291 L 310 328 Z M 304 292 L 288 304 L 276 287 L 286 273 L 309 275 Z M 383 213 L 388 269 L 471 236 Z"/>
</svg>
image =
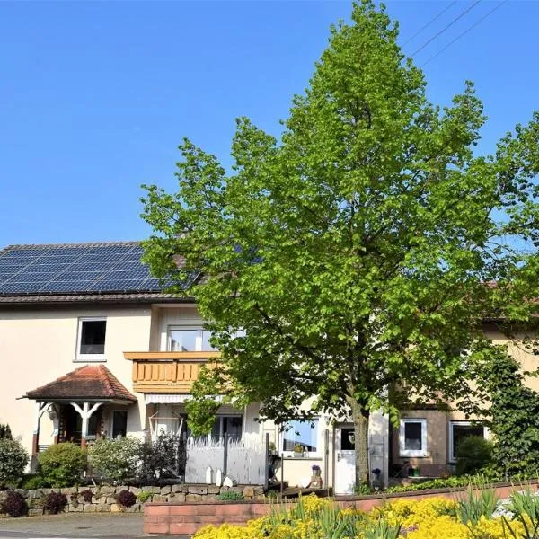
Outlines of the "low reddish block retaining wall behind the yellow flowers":
<svg viewBox="0 0 539 539">
<path fill-rule="evenodd" d="M 530 482 L 524 483 L 524 487 Z M 492 485 L 499 498 L 507 498 L 513 490 L 522 490 L 522 484 L 498 483 Z M 397 499 L 425 499 L 435 497 L 455 498 L 458 491 L 466 489 L 422 490 L 398 494 L 376 496 L 340 496 L 334 499 L 340 508 L 358 508 L 368 511 L 371 508 Z M 293 501 L 289 503 L 293 504 Z M 200 527 L 208 524 L 234 523 L 243 525 L 253 518 L 268 515 L 274 506 L 269 501 L 258 499 L 226 502 L 216 500 L 212 503 L 171 502 L 151 503 L 144 508 L 144 533 L 146 535 L 193 535 Z"/>
</svg>

